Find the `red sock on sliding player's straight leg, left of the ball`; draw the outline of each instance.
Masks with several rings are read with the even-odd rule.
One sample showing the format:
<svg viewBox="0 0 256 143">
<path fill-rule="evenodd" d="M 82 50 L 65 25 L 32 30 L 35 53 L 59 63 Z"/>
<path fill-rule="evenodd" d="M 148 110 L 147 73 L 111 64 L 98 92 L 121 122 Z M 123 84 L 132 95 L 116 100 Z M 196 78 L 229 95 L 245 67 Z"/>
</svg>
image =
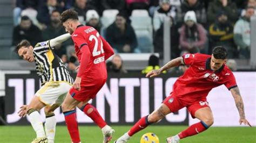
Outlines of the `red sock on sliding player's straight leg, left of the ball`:
<svg viewBox="0 0 256 143">
<path fill-rule="evenodd" d="M 132 137 L 133 134 L 139 132 L 140 130 L 143 130 L 148 125 L 150 125 L 150 123 L 149 121 L 147 121 L 147 116 L 142 117 L 139 119 L 139 121 L 137 121 L 137 123 L 134 126 L 132 126 L 132 128 L 128 132 L 128 135 Z"/>
</svg>

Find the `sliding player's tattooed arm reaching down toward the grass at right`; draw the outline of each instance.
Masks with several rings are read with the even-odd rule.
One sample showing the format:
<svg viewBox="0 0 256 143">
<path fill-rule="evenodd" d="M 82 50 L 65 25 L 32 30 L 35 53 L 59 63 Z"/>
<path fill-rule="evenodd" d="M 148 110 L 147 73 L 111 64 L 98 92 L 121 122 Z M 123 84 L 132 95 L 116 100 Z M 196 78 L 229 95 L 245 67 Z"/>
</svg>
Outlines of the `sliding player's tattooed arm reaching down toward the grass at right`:
<svg viewBox="0 0 256 143">
<path fill-rule="evenodd" d="M 239 123 L 240 123 L 240 125 L 242 123 L 244 123 L 245 125 L 251 126 L 250 123 L 245 118 L 244 103 L 242 102 L 242 97 L 240 95 L 239 88 L 235 87 L 235 88 L 232 88 L 230 91 L 231 91 L 231 94 L 232 94 L 232 96 L 234 98 L 234 101 L 235 101 L 235 105 L 237 106 L 237 109 L 238 109 L 238 112 L 239 112 L 239 116 L 240 116 Z"/>
</svg>

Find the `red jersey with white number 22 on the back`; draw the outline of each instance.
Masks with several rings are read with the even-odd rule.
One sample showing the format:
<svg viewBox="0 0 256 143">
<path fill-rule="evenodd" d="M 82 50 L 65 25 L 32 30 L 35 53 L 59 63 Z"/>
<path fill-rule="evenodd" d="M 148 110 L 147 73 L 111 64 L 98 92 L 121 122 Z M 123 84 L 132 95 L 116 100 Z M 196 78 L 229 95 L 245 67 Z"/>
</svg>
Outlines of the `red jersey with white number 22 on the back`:
<svg viewBox="0 0 256 143">
<path fill-rule="evenodd" d="M 77 76 L 86 81 L 106 78 L 105 60 L 114 54 L 109 43 L 90 26 L 77 26 L 71 37 L 80 62 Z"/>
</svg>

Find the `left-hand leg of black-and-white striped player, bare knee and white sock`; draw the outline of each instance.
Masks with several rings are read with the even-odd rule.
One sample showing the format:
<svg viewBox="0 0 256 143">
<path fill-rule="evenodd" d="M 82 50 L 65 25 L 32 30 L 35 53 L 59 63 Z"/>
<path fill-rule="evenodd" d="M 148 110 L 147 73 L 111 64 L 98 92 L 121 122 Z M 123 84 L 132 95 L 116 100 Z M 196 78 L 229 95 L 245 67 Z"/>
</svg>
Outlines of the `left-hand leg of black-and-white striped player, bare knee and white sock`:
<svg viewBox="0 0 256 143">
<path fill-rule="evenodd" d="M 48 139 L 46 138 L 45 132 L 44 132 L 43 121 L 38 112 L 44 106 L 45 104 L 39 101 L 39 98 L 37 96 L 34 96 L 27 108 L 28 109 L 27 113 L 29 116 L 30 123 L 37 135 L 37 138 L 34 139 L 32 143 L 48 142 Z"/>
</svg>

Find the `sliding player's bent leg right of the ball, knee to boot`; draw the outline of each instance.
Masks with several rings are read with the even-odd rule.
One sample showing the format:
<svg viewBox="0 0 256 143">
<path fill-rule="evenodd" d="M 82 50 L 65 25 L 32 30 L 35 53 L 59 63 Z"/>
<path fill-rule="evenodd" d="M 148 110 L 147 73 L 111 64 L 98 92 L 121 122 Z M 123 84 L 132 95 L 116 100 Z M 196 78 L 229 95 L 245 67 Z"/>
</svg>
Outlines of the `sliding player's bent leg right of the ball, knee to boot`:
<svg viewBox="0 0 256 143">
<path fill-rule="evenodd" d="M 188 127 L 186 130 L 174 135 L 173 137 L 167 138 L 168 143 L 179 142 L 180 139 L 196 135 L 200 132 L 207 130 L 213 124 L 213 115 L 209 107 L 198 109 L 194 113 L 194 117 L 201 120 L 199 123 L 193 124 Z"/>
</svg>

